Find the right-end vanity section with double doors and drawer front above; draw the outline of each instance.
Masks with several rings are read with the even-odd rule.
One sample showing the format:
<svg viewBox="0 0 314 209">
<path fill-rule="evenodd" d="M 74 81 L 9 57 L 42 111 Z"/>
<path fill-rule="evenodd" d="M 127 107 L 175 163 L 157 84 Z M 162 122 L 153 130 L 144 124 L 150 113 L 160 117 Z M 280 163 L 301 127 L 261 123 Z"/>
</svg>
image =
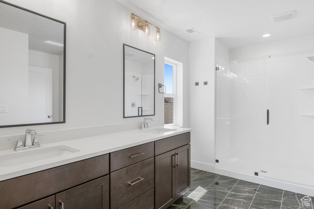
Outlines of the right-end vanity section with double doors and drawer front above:
<svg viewBox="0 0 314 209">
<path fill-rule="evenodd" d="M 190 133 L 177 136 L 181 136 L 182 138 L 180 143 L 190 142 Z M 162 150 L 166 150 L 167 147 L 173 147 L 173 143 L 171 142 L 172 137 L 166 139 L 169 141 L 163 141 L 163 146 L 158 146 Z M 177 139 L 178 138 L 175 138 L 175 140 Z M 156 143 L 158 143 L 158 141 L 155 142 L 155 149 Z M 167 146 L 169 144 L 170 146 Z M 155 209 L 169 207 L 185 192 L 190 190 L 190 155 L 191 145 L 186 144 L 177 149 L 155 156 Z"/>
</svg>

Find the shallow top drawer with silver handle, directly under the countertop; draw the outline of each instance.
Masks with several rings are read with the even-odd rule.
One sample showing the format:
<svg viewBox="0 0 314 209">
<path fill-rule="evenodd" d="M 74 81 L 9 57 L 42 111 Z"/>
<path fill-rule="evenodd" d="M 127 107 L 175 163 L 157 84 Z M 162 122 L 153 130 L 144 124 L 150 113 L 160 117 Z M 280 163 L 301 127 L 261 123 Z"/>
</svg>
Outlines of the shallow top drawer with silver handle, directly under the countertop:
<svg viewBox="0 0 314 209">
<path fill-rule="evenodd" d="M 154 142 L 110 153 L 110 172 L 154 157 Z"/>
</svg>

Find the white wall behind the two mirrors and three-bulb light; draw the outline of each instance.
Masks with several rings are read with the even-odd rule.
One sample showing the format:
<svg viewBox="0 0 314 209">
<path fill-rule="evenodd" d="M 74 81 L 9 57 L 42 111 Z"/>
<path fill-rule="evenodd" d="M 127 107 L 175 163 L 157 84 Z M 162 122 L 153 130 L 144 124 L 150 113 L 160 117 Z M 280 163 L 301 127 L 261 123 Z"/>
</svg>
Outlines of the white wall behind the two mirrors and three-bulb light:
<svg viewBox="0 0 314 209">
<path fill-rule="evenodd" d="M 8 2 L 67 23 L 66 123 L 34 126 L 39 132 L 140 121 L 123 118 L 123 43 L 156 55 L 156 116 L 164 124 L 164 95 L 157 84 L 164 82 L 164 57 L 183 63 L 183 81 L 188 83 L 189 44 L 162 30 L 162 41 L 132 31 L 132 10 L 114 0 Z M 143 17 L 145 18 L 145 17 Z M 111 78 L 111 79 L 108 79 Z M 188 95 L 188 86 L 183 87 Z M 188 126 L 188 96 L 183 99 L 184 123 Z M 2 128 L 0 136 L 24 133 L 25 128 Z M 46 143 L 54 139 L 46 138 Z"/>
</svg>

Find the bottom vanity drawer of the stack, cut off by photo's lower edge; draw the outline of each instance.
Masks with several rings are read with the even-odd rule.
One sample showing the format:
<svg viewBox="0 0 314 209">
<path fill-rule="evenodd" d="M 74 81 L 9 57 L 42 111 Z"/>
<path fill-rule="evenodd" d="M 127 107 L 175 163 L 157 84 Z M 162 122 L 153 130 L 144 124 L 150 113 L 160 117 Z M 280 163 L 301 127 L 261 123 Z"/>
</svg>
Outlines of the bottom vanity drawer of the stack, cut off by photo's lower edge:
<svg viewBox="0 0 314 209">
<path fill-rule="evenodd" d="M 127 203 L 119 209 L 154 209 L 154 189 L 149 190 L 145 194 L 139 196 L 135 200 Z"/>
</svg>

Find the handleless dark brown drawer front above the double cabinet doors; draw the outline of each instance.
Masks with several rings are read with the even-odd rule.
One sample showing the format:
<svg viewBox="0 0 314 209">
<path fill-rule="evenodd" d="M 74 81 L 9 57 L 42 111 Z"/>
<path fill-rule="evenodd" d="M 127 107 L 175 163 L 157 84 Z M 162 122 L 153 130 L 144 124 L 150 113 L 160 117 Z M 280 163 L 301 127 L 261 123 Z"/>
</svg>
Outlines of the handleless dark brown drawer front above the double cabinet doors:
<svg viewBox="0 0 314 209">
<path fill-rule="evenodd" d="M 155 141 L 155 156 L 176 149 L 191 142 L 191 132 L 182 133 Z"/>
</svg>

